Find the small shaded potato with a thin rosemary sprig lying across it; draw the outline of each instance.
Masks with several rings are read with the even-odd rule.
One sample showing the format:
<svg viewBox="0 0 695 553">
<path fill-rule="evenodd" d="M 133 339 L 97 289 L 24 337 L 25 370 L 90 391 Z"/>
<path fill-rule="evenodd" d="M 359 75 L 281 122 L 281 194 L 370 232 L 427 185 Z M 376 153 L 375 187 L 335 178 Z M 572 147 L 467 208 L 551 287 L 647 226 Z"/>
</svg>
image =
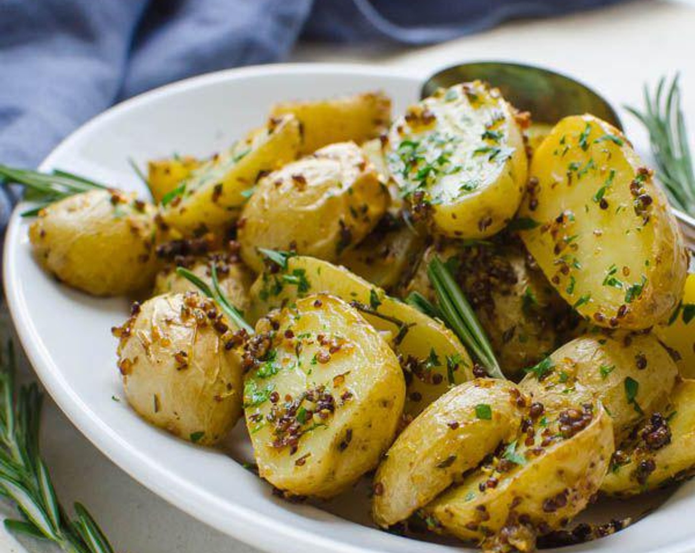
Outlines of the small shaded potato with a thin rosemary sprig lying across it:
<svg viewBox="0 0 695 553">
<path fill-rule="evenodd" d="M 185 267 L 209 287 L 212 287 L 213 264 L 217 271 L 220 289 L 229 303 L 242 313 L 248 310 L 251 303 L 249 290 L 254 282 L 253 276 L 236 254 L 229 251 L 186 256 L 167 264 L 164 269 L 157 273 L 152 295 L 183 294 L 187 291 L 198 290 L 193 282 L 177 273 L 176 270 L 179 266 Z"/>
</svg>

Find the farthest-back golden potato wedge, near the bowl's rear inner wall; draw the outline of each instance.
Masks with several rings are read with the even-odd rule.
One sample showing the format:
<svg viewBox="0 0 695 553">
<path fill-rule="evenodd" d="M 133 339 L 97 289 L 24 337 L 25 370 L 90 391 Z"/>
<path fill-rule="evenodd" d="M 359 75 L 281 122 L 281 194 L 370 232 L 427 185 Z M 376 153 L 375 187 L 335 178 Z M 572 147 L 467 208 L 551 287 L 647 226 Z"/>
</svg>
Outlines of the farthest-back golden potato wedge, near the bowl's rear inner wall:
<svg viewBox="0 0 695 553">
<path fill-rule="evenodd" d="M 337 142 L 361 143 L 389 128 L 391 99 L 384 93 L 363 93 L 334 99 L 281 102 L 271 117 L 294 115 L 302 127 L 300 154 L 312 154 Z"/>
</svg>

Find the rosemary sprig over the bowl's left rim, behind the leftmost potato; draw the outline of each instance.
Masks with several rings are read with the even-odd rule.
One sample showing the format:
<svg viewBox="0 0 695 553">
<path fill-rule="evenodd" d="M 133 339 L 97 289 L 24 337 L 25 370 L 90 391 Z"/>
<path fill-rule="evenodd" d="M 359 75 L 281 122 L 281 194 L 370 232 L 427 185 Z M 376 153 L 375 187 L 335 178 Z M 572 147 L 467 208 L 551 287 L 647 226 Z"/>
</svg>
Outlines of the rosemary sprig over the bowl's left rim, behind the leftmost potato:
<svg viewBox="0 0 695 553">
<path fill-rule="evenodd" d="M 94 189 L 108 189 L 108 186 L 81 175 L 60 169 L 52 173 L 40 173 L 27 169 L 17 169 L 0 164 L 0 180 L 6 184 L 19 184 L 26 189 L 25 199 L 39 202 L 37 207 L 24 211 L 22 217 L 34 217 L 53 202 Z"/>
</svg>

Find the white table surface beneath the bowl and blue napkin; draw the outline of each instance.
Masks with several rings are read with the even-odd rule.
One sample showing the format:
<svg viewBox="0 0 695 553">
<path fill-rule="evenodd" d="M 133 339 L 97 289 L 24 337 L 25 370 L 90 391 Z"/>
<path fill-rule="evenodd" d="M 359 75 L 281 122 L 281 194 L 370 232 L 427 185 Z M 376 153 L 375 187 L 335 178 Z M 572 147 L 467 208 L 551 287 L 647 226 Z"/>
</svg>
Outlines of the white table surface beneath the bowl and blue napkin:
<svg viewBox="0 0 695 553">
<path fill-rule="evenodd" d="M 560 1 L 560 0 L 558 0 Z M 681 73 L 683 102 L 695 129 L 695 0 L 641 0 L 556 19 L 504 24 L 479 35 L 418 49 L 301 45 L 290 61 L 365 62 L 427 74 L 459 61 L 521 61 L 560 70 L 594 86 L 616 106 L 641 105 L 644 81 Z M 638 149 L 646 135 L 623 113 Z M 694 136 L 691 134 L 691 136 Z M 6 317 L 6 310 L 2 310 Z M 2 326 L 8 321 L 2 319 Z M 2 334 L 4 335 L 4 333 Z M 24 378 L 33 378 L 24 367 Z M 42 428 L 44 457 L 59 497 L 80 501 L 122 553 L 252 553 L 254 548 L 181 513 L 92 447 L 51 401 Z M 0 517 L 12 509 L 0 503 Z M 32 540 L 18 543 L 0 526 L 0 552 L 54 552 Z"/>
</svg>

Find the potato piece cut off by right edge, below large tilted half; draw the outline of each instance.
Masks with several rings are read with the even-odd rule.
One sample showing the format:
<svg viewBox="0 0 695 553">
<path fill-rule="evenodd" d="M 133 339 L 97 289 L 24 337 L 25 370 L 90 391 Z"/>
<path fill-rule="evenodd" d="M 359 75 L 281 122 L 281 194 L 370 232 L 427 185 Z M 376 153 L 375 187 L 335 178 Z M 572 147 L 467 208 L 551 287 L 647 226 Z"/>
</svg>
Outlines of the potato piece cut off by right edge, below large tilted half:
<svg viewBox="0 0 695 553">
<path fill-rule="evenodd" d="M 671 351 L 680 376 L 695 378 L 695 274 L 688 275 L 680 305 L 654 334 Z"/>
</svg>

